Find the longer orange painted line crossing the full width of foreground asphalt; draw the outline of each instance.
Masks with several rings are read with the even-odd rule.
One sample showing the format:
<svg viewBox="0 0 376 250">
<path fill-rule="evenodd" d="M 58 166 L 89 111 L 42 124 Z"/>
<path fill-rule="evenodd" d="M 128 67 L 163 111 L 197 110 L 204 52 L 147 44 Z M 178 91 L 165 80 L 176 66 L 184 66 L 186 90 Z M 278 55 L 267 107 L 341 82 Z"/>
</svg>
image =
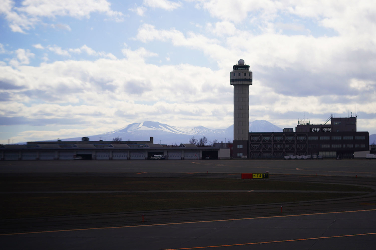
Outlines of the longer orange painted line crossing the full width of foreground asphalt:
<svg viewBox="0 0 376 250">
<path fill-rule="evenodd" d="M 279 215 L 279 216 L 263 216 L 263 217 L 251 217 L 251 218 L 241 218 L 241 219 L 202 220 L 202 221 L 198 221 L 198 222 L 176 222 L 176 223 L 160 223 L 160 224 L 146 224 L 146 225 L 134 225 L 134 226 L 112 226 L 112 227 L 103 227 L 103 228 L 64 229 L 64 230 L 52 230 L 52 231 L 37 231 L 37 232 L 0 234 L 0 236 L 20 235 L 20 234 L 42 234 L 42 233 L 53 233 L 53 232 L 86 231 L 86 230 L 114 229 L 114 228 L 141 228 L 141 227 L 146 227 L 146 226 L 183 225 L 183 224 L 194 224 L 194 223 L 205 223 L 205 222 L 230 222 L 230 221 L 235 221 L 235 220 L 269 219 L 269 218 L 296 217 L 296 216 L 308 216 L 308 215 L 320 215 L 320 214 L 342 214 L 342 213 L 354 213 L 354 212 L 368 212 L 368 211 L 376 211 L 376 209 L 341 211 L 341 212 L 325 212 L 325 213 L 313 213 L 313 214 L 292 214 L 292 215 Z"/>
</svg>

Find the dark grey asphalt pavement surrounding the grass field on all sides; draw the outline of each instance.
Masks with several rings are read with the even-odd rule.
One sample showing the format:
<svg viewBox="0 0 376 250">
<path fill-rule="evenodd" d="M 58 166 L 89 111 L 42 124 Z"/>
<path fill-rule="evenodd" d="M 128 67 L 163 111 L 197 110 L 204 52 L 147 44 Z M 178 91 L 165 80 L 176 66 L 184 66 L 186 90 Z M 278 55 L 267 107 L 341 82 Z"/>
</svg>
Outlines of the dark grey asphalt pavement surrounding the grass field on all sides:
<svg viewBox="0 0 376 250">
<path fill-rule="evenodd" d="M 33 176 L 191 176 L 347 183 L 376 189 L 372 160 L 6 161 L 0 173 Z M 142 220 L 144 219 L 144 222 Z M 2 220 L 3 249 L 374 249 L 376 196 Z M 8 233 L 7 233 L 8 232 Z"/>
</svg>

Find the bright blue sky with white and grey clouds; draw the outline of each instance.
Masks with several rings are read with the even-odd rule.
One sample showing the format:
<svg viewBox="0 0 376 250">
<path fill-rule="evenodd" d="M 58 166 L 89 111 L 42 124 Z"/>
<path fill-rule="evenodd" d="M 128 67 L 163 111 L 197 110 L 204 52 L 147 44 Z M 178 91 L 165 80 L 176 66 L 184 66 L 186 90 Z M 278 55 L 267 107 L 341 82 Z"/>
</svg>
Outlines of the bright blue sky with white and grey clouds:
<svg viewBox="0 0 376 250">
<path fill-rule="evenodd" d="M 0 0 L 0 24 L 3 144 L 148 120 L 226 128 L 240 58 L 250 121 L 356 111 L 376 133 L 373 0 Z"/>
</svg>

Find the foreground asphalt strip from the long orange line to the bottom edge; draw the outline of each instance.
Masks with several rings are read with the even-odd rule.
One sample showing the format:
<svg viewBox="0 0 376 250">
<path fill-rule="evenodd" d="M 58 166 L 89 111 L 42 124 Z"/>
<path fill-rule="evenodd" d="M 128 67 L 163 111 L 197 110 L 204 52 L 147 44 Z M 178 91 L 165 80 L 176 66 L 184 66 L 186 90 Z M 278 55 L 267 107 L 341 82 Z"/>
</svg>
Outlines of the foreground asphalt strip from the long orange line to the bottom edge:
<svg viewBox="0 0 376 250">
<path fill-rule="evenodd" d="M 374 249 L 376 209 L 1 235 L 5 249 Z"/>
</svg>

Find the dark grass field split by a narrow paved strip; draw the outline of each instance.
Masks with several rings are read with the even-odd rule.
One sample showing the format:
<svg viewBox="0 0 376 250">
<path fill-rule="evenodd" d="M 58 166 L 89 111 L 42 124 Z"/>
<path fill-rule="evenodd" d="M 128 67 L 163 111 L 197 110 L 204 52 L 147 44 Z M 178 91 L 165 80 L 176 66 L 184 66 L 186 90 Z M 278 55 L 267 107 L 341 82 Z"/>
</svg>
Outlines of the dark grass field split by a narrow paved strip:
<svg viewBox="0 0 376 250">
<path fill-rule="evenodd" d="M 152 191 L 165 193 L 22 193 L 45 191 Z M 194 192 L 194 191 L 200 192 Z M 204 191 L 203 191 L 204 190 Z M 218 192 L 205 192 L 217 190 Z M 364 187 L 271 180 L 143 177 L 0 177 L 1 219 L 252 205 L 352 196 L 350 193 L 225 193 L 220 190 L 372 192 Z"/>
</svg>

